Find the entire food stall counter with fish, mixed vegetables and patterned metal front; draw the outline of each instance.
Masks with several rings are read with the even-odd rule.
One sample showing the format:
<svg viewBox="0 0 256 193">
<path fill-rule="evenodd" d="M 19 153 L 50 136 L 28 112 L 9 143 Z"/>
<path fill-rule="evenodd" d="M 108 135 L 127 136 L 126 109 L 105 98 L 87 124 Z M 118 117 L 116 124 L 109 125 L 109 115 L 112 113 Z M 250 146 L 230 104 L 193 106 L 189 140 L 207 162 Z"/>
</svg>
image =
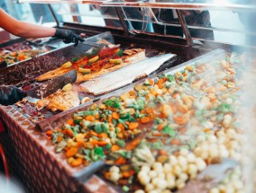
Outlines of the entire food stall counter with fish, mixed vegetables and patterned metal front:
<svg viewBox="0 0 256 193">
<path fill-rule="evenodd" d="M 86 32 L 94 40 L 0 69 L 1 85 L 18 86 L 26 94 L 14 105 L 0 105 L 0 114 L 28 189 L 249 192 L 244 165 L 251 164 L 251 156 L 243 148 L 248 131 L 239 113 L 247 110 L 242 79 L 251 57 L 242 53 L 255 48 L 191 38 L 190 30 L 197 27 L 187 27 L 183 12 L 218 6 L 183 1 L 62 3 L 73 11 L 78 3 L 115 7 L 123 31 L 64 21 L 60 28 Z M 156 14 L 151 8 L 177 9 L 173 13 L 180 24 L 174 26 L 182 29 L 182 37 L 129 28 L 131 22 L 145 23 L 144 18 L 130 21 L 125 8 L 131 6 L 146 7 L 152 23 Z M 241 4 L 226 6 L 236 11 Z M 253 8 L 242 6 L 242 11 Z M 78 15 L 72 12 L 73 18 Z M 106 28 L 113 41 L 98 39 L 96 34 Z"/>
</svg>

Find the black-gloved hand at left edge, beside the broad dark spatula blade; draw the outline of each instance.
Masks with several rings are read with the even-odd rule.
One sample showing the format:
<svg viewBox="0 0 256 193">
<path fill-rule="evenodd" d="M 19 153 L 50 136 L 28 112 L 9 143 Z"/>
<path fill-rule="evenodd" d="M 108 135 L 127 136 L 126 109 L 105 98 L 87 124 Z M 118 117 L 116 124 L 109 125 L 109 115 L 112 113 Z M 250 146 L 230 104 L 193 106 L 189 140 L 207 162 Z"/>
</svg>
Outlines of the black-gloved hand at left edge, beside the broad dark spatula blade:
<svg viewBox="0 0 256 193">
<path fill-rule="evenodd" d="M 12 105 L 23 99 L 23 90 L 15 86 L 0 86 L 0 104 Z"/>
</svg>

